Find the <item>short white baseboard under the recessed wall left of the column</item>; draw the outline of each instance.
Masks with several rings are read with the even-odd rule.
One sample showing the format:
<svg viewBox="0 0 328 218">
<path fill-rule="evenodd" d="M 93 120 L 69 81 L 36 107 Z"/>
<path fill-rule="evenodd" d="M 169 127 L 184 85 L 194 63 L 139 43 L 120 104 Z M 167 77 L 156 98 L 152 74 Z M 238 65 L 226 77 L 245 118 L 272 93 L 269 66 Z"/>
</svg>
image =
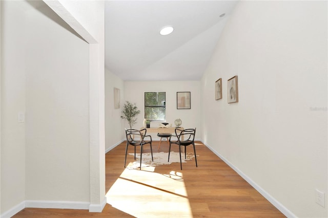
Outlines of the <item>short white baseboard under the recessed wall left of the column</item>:
<svg viewBox="0 0 328 218">
<path fill-rule="evenodd" d="M 25 201 L 26 208 L 56 208 L 56 209 L 78 209 L 88 210 L 90 202 L 73 201 Z"/>
</svg>

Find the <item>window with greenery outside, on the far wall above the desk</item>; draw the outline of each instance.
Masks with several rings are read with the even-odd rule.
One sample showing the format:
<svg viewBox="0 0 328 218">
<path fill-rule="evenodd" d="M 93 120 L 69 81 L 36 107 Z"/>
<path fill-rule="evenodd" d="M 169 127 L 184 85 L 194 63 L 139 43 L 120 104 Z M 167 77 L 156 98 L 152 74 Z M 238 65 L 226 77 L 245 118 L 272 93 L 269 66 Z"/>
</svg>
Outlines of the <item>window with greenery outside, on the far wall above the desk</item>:
<svg viewBox="0 0 328 218">
<path fill-rule="evenodd" d="M 165 92 L 145 92 L 145 119 L 165 121 Z"/>
</svg>

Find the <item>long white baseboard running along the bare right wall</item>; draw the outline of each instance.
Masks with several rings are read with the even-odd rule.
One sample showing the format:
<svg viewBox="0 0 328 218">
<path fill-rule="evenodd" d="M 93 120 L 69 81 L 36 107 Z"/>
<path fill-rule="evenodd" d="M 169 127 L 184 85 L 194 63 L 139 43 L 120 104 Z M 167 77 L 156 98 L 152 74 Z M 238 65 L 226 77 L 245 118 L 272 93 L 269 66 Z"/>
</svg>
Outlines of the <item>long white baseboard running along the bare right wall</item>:
<svg viewBox="0 0 328 218">
<path fill-rule="evenodd" d="M 221 156 L 218 152 L 216 152 L 210 145 L 202 142 L 206 145 L 210 150 L 213 151 L 222 161 L 228 164 L 233 170 L 235 170 L 239 176 L 241 176 L 244 180 L 246 180 L 253 188 L 255 188 L 265 199 L 267 199 L 271 204 L 273 204 L 280 212 L 282 212 L 287 217 L 297 217 L 293 214 L 289 209 L 284 207 L 280 202 L 278 202 L 275 198 L 273 198 L 267 191 L 261 188 L 258 184 L 256 184 L 251 178 L 245 175 L 241 170 L 235 167 L 232 163 L 230 163 L 226 158 Z"/>
</svg>

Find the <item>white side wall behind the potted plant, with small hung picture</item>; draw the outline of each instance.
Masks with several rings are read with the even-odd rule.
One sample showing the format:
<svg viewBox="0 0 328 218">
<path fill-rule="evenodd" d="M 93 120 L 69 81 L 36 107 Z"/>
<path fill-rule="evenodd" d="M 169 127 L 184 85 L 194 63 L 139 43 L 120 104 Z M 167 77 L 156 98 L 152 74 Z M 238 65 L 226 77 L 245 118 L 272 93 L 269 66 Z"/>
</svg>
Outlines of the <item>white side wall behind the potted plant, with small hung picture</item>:
<svg viewBox="0 0 328 218">
<path fill-rule="evenodd" d="M 120 108 L 114 108 L 114 87 L 120 90 Z M 124 81 L 105 69 L 105 130 L 106 151 L 125 139 L 123 122 L 120 118 L 124 105 Z"/>
</svg>

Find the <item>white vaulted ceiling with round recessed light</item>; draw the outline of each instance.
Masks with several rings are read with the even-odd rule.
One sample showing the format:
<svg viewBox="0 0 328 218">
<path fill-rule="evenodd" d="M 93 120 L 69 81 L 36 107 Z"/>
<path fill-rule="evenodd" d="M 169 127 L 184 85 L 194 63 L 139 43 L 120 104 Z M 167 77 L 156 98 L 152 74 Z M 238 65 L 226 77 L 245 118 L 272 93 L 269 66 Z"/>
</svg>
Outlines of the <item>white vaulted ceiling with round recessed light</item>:
<svg viewBox="0 0 328 218">
<path fill-rule="evenodd" d="M 105 67 L 109 71 L 129 81 L 199 80 L 236 1 L 105 4 Z M 173 33 L 160 35 L 165 26 L 172 26 Z"/>
</svg>

